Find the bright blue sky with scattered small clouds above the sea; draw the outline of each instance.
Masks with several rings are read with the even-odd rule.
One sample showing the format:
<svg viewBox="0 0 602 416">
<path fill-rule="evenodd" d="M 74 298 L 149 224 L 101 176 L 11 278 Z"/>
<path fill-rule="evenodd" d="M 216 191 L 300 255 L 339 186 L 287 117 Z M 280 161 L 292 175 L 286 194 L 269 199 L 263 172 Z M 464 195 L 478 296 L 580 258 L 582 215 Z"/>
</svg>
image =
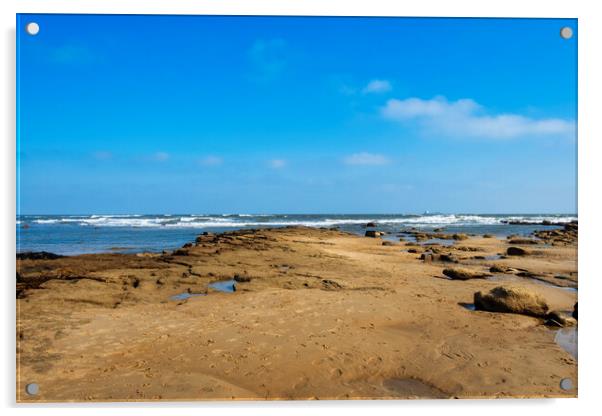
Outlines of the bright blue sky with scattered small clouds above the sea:
<svg viewBox="0 0 602 416">
<path fill-rule="evenodd" d="M 577 210 L 576 19 L 17 27 L 19 214 Z"/>
</svg>

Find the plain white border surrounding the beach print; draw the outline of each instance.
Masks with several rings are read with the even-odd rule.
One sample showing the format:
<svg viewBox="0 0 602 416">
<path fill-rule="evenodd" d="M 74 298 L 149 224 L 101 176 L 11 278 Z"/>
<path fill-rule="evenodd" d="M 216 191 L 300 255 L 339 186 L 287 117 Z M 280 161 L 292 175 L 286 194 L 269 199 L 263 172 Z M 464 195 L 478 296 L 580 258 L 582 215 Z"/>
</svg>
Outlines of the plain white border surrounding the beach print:
<svg viewBox="0 0 602 416">
<path fill-rule="evenodd" d="M 2 0 L 2 55 L 0 71 L 3 97 L 0 100 L 3 132 L 1 157 L 2 195 L 1 263 L 2 276 L 2 403 L 9 413 L 30 413 L 39 406 L 16 406 L 14 386 L 14 265 L 15 265 L 15 13 L 115 13 L 115 14 L 237 14 L 237 15 L 347 15 L 347 16 L 448 16 L 448 17 L 571 17 L 579 18 L 579 222 L 581 223 L 579 249 L 579 399 L 564 400 L 502 400 L 502 401 L 413 401 L 413 402 L 258 402 L 258 403 L 202 403 L 154 405 L 51 405 L 43 411 L 53 415 L 107 414 L 129 410 L 157 414 L 211 414 L 245 413 L 246 415 L 288 414 L 307 412 L 329 414 L 345 412 L 364 415 L 366 412 L 399 414 L 425 412 L 446 415 L 470 413 L 507 416 L 508 413 L 545 412 L 567 414 L 589 412 L 597 406 L 600 383 L 600 321 L 597 308 L 602 293 L 602 273 L 597 267 L 598 247 L 602 245 L 602 216 L 600 195 L 602 157 L 600 128 L 602 65 L 602 19 L 596 13 L 594 1 L 476 1 L 476 0 L 421 0 L 386 2 L 382 0 Z M 596 44 L 597 43 L 597 44 Z M 596 238 L 596 236 L 598 238 Z M 598 254 L 598 256 L 597 256 Z"/>
</svg>

